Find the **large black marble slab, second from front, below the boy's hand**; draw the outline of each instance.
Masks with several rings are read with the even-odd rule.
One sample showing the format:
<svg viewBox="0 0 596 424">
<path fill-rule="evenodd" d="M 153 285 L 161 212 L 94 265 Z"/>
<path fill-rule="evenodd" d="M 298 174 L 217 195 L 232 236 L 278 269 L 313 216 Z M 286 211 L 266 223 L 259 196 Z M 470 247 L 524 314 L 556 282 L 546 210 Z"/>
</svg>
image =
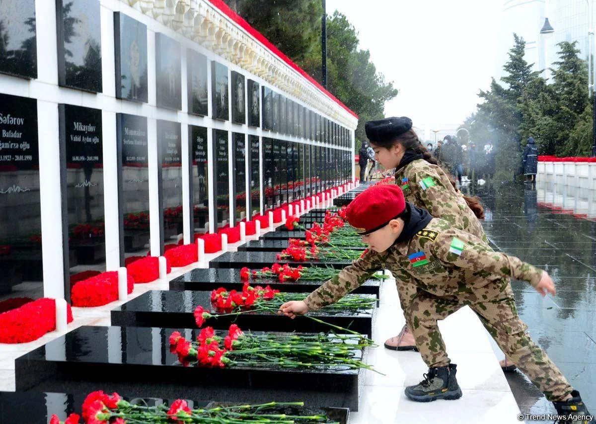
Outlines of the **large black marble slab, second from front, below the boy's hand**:
<svg viewBox="0 0 596 424">
<path fill-rule="evenodd" d="M 17 358 L 16 390 L 91 392 L 110 388 L 131 397 L 177 398 L 184 393 L 185 398 L 243 403 L 304 401 L 358 410 L 364 370 L 185 367 L 176 353 L 170 353 L 169 336 L 176 330 L 187 339 L 196 339 L 199 332 L 180 327 L 79 327 Z M 366 360 L 366 351 L 355 348 L 354 356 Z"/>
</svg>

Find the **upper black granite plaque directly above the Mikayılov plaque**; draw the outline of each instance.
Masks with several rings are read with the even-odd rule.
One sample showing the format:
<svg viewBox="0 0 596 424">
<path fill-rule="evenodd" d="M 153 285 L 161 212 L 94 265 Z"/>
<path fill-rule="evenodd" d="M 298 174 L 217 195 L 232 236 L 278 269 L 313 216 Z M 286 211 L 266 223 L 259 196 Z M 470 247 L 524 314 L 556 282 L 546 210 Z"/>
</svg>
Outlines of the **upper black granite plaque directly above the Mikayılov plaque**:
<svg viewBox="0 0 596 424">
<path fill-rule="evenodd" d="M 97 0 L 56 0 L 60 85 L 101 92 L 100 21 Z"/>
</svg>

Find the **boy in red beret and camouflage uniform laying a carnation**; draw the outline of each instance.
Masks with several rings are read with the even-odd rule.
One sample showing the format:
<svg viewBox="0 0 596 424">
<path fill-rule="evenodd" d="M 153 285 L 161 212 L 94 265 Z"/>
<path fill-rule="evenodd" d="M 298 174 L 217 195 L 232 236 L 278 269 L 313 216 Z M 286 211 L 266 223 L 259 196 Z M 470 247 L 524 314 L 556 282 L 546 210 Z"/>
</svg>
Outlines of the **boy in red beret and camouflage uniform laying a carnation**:
<svg viewBox="0 0 596 424">
<path fill-rule="evenodd" d="M 579 392 L 525 333 L 527 326 L 517 316 L 510 277 L 529 281 L 543 296 L 554 295 L 547 273 L 514 256 L 494 252 L 478 237 L 406 203 L 396 185 L 368 188 L 346 212 L 347 221 L 370 249 L 304 301 L 281 305 L 281 312 L 293 318 L 318 310 L 337 302 L 376 271 L 390 270 L 396 280 L 412 278 L 418 287 L 405 315 L 429 373 L 418 385 L 405 389 L 408 398 L 428 402 L 461 397 L 456 365 L 445 352 L 437 320 L 468 305 L 560 414 L 588 415 Z"/>
</svg>

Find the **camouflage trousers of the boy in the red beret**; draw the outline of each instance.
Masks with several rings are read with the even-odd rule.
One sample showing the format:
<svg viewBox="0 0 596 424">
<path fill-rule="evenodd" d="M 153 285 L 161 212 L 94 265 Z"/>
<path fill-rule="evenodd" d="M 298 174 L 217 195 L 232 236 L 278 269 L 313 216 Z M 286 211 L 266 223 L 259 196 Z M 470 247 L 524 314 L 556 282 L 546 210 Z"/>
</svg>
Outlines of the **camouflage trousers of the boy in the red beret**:
<svg viewBox="0 0 596 424">
<path fill-rule="evenodd" d="M 450 363 L 437 320 L 445 319 L 465 305 L 476 312 L 505 355 L 538 386 L 548 400 L 561 400 L 573 390 L 546 352 L 526 334 L 527 326 L 517 316 L 511 287 L 507 287 L 499 299 L 476 303 L 439 298 L 418 290 L 418 294 L 409 302 L 405 315 L 427 366 L 442 367 Z"/>
</svg>

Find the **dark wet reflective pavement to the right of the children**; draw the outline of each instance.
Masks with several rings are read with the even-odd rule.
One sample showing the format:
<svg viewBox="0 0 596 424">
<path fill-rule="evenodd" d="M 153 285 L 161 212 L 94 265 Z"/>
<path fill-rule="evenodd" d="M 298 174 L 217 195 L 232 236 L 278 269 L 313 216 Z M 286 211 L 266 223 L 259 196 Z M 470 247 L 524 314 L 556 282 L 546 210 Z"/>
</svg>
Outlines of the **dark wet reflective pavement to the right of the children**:
<svg viewBox="0 0 596 424">
<path fill-rule="evenodd" d="M 554 280 L 557 294 L 544 299 L 525 281 L 512 281 L 517 310 L 534 341 L 547 351 L 594 413 L 596 222 L 582 218 L 583 211 L 545 202 L 556 199 L 552 193 L 557 190 L 541 182 L 538 191 L 532 185 L 512 182 L 462 187 L 465 194 L 482 199 L 483 227 L 493 247 L 546 270 Z M 494 347 L 498 349 L 496 344 Z M 507 380 L 522 413 L 554 413 L 552 404 L 522 373 L 508 374 Z"/>
</svg>

